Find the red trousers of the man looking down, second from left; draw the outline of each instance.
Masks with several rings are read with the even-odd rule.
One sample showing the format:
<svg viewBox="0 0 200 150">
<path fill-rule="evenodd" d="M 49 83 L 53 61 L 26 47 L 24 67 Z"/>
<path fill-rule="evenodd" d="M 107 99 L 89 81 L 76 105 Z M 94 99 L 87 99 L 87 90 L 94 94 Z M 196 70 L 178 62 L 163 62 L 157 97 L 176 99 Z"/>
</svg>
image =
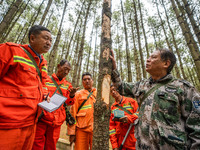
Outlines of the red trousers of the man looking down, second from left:
<svg viewBox="0 0 200 150">
<path fill-rule="evenodd" d="M 52 127 L 45 122 L 39 121 L 32 150 L 56 150 L 60 128 L 61 126 Z"/>
</svg>

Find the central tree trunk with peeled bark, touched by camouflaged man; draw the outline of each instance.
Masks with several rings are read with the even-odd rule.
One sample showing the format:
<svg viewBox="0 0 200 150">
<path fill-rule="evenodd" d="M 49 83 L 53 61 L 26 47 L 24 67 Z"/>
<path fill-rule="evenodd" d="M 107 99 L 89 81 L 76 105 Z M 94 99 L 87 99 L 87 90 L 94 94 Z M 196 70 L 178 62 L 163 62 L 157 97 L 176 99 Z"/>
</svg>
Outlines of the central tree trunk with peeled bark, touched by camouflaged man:
<svg viewBox="0 0 200 150">
<path fill-rule="evenodd" d="M 111 50 L 111 0 L 103 1 L 101 52 L 97 99 L 94 104 L 93 150 L 109 149 Z"/>
</svg>

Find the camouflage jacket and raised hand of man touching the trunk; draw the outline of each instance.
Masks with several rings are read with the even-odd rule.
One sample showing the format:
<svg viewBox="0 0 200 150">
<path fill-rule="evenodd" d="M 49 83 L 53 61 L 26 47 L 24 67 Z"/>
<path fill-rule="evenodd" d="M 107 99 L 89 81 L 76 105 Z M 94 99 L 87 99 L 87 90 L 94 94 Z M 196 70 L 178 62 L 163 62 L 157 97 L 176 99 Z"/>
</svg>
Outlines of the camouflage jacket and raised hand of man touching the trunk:
<svg viewBox="0 0 200 150">
<path fill-rule="evenodd" d="M 156 83 L 151 78 L 124 83 L 117 70 L 112 72 L 120 94 L 138 103 L 149 89 L 169 80 L 141 103 L 135 128 L 137 149 L 200 149 L 200 94 L 189 82 L 168 74 Z"/>
</svg>

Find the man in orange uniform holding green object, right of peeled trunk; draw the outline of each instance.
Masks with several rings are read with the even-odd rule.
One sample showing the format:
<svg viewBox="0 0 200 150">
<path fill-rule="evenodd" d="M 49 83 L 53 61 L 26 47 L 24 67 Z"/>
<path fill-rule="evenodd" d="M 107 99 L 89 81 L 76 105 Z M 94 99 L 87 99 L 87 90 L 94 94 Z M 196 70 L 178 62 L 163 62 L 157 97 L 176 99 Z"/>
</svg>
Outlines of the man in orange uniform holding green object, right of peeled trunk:
<svg viewBox="0 0 200 150">
<path fill-rule="evenodd" d="M 113 150 L 118 150 L 130 124 L 134 123 L 138 118 L 138 104 L 132 98 L 121 96 L 113 85 L 111 85 L 110 93 L 115 99 L 115 102 L 111 106 L 112 113 L 110 116 L 109 135 Z M 123 107 L 124 110 L 119 106 Z M 114 119 L 113 112 L 117 109 L 124 111 L 125 116 L 116 120 Z M 134 126 L 132 126 L 122 150 L 135 150 L 135 143 L 136 138 L 134 137 Z"/>
</svg>

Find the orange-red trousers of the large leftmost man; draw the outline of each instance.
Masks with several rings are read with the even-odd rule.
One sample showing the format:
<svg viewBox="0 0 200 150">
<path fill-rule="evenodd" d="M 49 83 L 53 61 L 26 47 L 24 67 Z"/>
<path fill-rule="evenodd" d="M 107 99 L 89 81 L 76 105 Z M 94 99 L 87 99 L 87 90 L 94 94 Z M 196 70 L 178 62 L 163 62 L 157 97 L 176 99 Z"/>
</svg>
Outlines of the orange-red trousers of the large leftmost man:
<svg viewBox="0 0 200 150">
<path fill-rule="evenodd" d="M 0 129 L 0 150 L 31 150 L 35 137 L 36 125 Z"/>
</svg>

